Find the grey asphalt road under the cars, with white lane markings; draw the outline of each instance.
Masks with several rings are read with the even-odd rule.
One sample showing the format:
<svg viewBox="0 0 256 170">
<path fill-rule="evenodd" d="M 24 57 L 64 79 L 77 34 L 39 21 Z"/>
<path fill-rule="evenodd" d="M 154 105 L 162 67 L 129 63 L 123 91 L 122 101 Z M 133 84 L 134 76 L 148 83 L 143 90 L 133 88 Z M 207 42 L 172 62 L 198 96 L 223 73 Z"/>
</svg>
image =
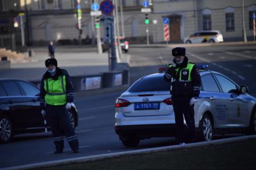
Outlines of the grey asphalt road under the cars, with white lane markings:
<svg viewBox="0 0 256 170">
<path fill-rule="evenodd" d="M 170 62 L 170 47 L 131 48 L 131 83 L 161 67 L 159 56 Z M 219 71 L 239 85 L 248 85 L 249 93 L 256 96 L 256 44 L 187 47 L 190 61 L 208 64 L 210 70 Z M 76 133 L 80 153 L 73 154 L 65 143 L 63 154 L 53 154 L 51 133 L 18 135 L 9 144 L 0 145 L 0 168 L 28 163 L 67 159 L 71 157 L 128 151 L 114 133 L 114 102 L 122 91 L 94 96 L 76 97 L 79 126 Z M 146 139 L 134 149 L 161 147 L 176 144 L 173 138 Z"/>
</svg>

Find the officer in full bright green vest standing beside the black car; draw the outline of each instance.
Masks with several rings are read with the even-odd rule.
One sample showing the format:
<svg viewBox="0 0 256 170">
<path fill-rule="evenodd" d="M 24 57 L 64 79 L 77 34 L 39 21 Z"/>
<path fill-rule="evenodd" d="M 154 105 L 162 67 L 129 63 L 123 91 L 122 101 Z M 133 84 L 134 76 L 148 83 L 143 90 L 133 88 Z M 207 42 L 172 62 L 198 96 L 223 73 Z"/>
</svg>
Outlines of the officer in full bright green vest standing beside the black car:
<svg viewBox="0 0 256 170">
<path fill-rule="evenodd" d="M 67 111 L 71 108 L 75 96 L 69 74 L 66 70 L 57 67 L 55 58 L 46 59 L 45 66 L 48 71 L 45 72 L 41 81 L 40 97 L 45 99 L 45 103 L 42 103 L 42 114 L 46 114 L 52 129 L 55 154 L 63 153 L 63 135 L 66 136 L 73 153 L 78 153 L 78 138 Z"/>
</svg>

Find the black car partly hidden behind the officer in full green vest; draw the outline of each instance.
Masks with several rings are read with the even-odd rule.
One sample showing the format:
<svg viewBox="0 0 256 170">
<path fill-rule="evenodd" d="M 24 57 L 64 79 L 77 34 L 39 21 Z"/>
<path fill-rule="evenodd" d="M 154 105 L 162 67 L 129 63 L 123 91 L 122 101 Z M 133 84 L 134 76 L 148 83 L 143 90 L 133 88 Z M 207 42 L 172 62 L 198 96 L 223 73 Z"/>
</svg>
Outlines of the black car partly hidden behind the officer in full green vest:
<svg viewBox="0 0 256 170">
<path fill-rule="evenodd" d="M 7 143 L 13 135 L 43 132 L 44 118 L 39 102 L 39 88 L 19 79 L 0 79 L 0 142 Z M 73 128 L 78 125 L 75 105 L 69 111 Z"/>
</svg>

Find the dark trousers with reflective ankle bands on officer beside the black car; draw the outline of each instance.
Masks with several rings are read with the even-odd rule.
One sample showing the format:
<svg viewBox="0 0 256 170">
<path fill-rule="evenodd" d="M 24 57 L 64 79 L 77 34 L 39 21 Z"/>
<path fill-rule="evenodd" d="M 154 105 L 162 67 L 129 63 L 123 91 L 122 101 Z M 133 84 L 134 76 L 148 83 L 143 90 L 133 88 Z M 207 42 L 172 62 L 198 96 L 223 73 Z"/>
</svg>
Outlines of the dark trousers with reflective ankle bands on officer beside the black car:
<svg viewBox="0 0 256 170">
<path fill-rule="evenodd" d="M 70 148 L 73 151 L 78 150 L 78 139 L 70 123 L 69 113 L 65 105 L 46 105 L 46 115 L 52 129 L 56 150 L 62 151 L 64 148 L 63 135 L 66 136 Z"/>
</svg>

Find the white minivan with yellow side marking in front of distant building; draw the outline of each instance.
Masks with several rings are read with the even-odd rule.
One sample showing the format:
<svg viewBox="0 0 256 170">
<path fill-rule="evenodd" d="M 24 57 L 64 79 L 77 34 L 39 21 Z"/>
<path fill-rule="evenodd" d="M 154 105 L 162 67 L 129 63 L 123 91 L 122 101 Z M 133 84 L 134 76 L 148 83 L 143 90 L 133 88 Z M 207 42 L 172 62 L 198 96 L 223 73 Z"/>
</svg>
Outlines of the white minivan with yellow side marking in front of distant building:
<svg viewBox="0 0 256 170">
<path fill-rule="evenodd" d="M 221 43 L 223 36 L 220 31 L 199 31 L 184 39 L 184 43 Z"/>
</svg>

